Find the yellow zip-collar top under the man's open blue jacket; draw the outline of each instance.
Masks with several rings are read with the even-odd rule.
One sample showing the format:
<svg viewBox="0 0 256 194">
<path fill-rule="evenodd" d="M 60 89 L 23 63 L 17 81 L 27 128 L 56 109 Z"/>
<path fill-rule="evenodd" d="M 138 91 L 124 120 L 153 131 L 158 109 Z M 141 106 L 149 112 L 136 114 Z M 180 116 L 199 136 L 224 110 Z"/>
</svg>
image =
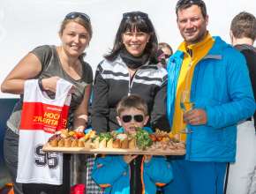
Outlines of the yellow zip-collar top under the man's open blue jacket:
<svg viewBox="0 0 256 194">
<path fill-rule="evenodd" d="M 178 50 L 184 52 L 184 60 L 181 66 L 179 78 L 177 80 L 177 93 L 172 123 L 172 132 L 174 134 L 179 133 L 179 131 L 184 130 L 185 128 L 185 123 L 183 122 L 183 112 L 180 108 L 181 92 L 184 90 L 191 90 L 194 68 L 196 64 L 207 55 L 214 43 L 215 40 L 212 38 L 212 36 L 207 34 L 202 41 L 196 44 L 186 46 L 185 42 L 182 42 L 178 48 Z M 192 50 L 192 56 L 190 56 L 188 53 L 189 49 Z M 185 139 L 185 134 L 181 135 L 181 139 Z"/>
</svg>

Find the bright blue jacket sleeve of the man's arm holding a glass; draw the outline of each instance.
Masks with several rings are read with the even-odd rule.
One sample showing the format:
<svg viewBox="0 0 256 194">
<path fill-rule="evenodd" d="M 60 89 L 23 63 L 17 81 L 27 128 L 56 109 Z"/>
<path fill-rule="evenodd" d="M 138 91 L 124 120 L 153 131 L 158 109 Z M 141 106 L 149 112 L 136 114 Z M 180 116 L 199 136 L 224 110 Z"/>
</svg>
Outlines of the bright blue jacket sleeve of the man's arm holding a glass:
<svg viewBox="0 0 256 194">
<path fill-rule="evenodd" d="M 255 100 L 245 57 L 233 48 L 225 52 L 227 93 L 230 101 L 207 106 L 207 125 L 216 129 L 234 125 L 255 112 Z"/>
</svg>

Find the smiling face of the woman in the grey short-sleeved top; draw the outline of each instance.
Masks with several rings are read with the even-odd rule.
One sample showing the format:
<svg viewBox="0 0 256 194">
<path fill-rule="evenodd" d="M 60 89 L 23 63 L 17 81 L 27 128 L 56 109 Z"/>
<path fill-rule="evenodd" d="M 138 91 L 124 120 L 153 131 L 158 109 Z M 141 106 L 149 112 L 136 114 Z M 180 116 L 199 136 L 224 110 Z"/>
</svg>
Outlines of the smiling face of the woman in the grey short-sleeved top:
<svg viewBox="0 0 256 194">
<path fill-rule="evenodd" d="M 62 34 L 59 35 L 64 52 L 73 57 L 80 56 L 90 41 L 87 29 L 74 21 L 67 23 Z"/>
</svg>

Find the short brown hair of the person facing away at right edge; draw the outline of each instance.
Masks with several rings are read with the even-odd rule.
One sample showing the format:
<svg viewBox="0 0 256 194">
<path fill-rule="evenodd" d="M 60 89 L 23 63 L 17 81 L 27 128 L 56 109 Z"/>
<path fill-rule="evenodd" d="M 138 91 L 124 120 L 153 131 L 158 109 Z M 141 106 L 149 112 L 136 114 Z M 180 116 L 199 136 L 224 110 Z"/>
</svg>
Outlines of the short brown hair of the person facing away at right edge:
<svg viewBox="0 0 256 194">
<path fill-rule="evenodd" d="M 249 12 L 240 12 L 232 19 L 230 31 L 235 38 L 256 38 L 256 19 Z"/>
</svg>

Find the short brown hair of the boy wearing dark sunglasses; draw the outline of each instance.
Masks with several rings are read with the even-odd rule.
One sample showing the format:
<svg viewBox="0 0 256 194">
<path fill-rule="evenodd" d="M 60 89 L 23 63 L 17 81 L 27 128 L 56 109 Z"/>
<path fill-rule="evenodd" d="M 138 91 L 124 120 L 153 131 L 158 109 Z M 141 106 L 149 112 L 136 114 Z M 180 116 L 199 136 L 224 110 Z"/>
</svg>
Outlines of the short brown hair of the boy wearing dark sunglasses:
<svg viewBox="0 0 256 194">
<path fill-rule="evenodd" d="M 139 109 L 145 116 L 147 116 L 147 103 L 139 95 L 132 94 L 125 96 L 121 101 L 119 101 L 117 104 L 117 116 L 120 116 L 124 110 L 130 108 Z"/>
</svg>

